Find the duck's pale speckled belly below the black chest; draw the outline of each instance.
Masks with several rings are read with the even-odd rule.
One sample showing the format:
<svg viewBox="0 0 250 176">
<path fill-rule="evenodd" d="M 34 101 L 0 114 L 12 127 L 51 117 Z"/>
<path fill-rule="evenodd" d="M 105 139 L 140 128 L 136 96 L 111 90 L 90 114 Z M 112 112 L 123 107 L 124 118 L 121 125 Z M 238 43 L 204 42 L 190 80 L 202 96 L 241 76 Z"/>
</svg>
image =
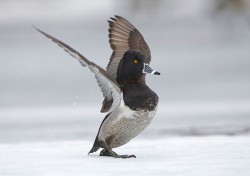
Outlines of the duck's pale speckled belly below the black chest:
<svg viewBox="0 0 250 176">
<path fill-rule="evenodd" d="M 99 140 L 105 141 L 111 148 L 126 144 L 150 124 L 156 109 L 135 111 L 125 104 L 121 105 L 103 122 Z"/>
</svg>

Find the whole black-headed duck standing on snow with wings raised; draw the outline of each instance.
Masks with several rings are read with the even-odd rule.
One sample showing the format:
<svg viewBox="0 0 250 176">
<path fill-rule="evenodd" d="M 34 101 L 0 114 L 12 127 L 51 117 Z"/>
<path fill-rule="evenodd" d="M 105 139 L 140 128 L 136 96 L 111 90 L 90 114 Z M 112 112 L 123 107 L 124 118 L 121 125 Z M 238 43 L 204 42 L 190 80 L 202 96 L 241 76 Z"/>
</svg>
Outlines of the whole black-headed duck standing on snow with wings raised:
<svg viewBox="0 0 250 176">
<path fill-rule="evenodd" d="M 100 156 L 136 158 L 134 154 L 117 154 L 113 149 L 127 144 L 151 123 L 159 97 L 147 86 L 146 74 L 160 73 L 149 66 L 150 49 L 134 25 L 118 15 L 111 17 L 108 23 L 113 52 L 106 69 L 57 38 L 34 28 L 87 67 L 103 93 L 101 113 L 106 116 L 88 154 L 102 149 Z"/>
</svg>

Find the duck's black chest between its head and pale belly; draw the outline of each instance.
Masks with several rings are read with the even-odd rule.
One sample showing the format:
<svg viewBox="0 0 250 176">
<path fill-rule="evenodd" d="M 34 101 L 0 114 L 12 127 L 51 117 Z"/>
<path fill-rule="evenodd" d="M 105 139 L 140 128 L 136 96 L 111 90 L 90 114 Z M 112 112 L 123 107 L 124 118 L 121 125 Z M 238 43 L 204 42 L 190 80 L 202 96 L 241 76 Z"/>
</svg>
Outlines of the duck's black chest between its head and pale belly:
<svg viewBox="0 0 250 176">
<path fill-rule="evenodd" d="M 158 104 L 158 96 L 145 83 L 128 83 L 123 86 L 123 99 L 132 110 L 155 110 Z"/>
</svg>

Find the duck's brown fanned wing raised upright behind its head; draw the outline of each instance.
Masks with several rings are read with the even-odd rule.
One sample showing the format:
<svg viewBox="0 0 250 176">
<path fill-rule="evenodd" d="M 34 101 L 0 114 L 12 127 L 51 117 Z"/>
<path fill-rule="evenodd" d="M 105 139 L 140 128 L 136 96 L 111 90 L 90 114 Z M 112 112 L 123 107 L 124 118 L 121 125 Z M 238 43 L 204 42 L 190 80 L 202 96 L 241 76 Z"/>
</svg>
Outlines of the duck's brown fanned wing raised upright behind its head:
<svg viewBox="0 0 250 176">
<path fill-rule="evenodd" d="M 125 18 L 115 16 L 109 20 L 109 43 L 113 50 L 107 66 L 107 72 L 116 79 L 117 68 L 127 50 L 139 50 L 150 63 L 150 49 L 142 34 Z M 145 80 L 145 78 L 143 78 Z"/>
</svg>

